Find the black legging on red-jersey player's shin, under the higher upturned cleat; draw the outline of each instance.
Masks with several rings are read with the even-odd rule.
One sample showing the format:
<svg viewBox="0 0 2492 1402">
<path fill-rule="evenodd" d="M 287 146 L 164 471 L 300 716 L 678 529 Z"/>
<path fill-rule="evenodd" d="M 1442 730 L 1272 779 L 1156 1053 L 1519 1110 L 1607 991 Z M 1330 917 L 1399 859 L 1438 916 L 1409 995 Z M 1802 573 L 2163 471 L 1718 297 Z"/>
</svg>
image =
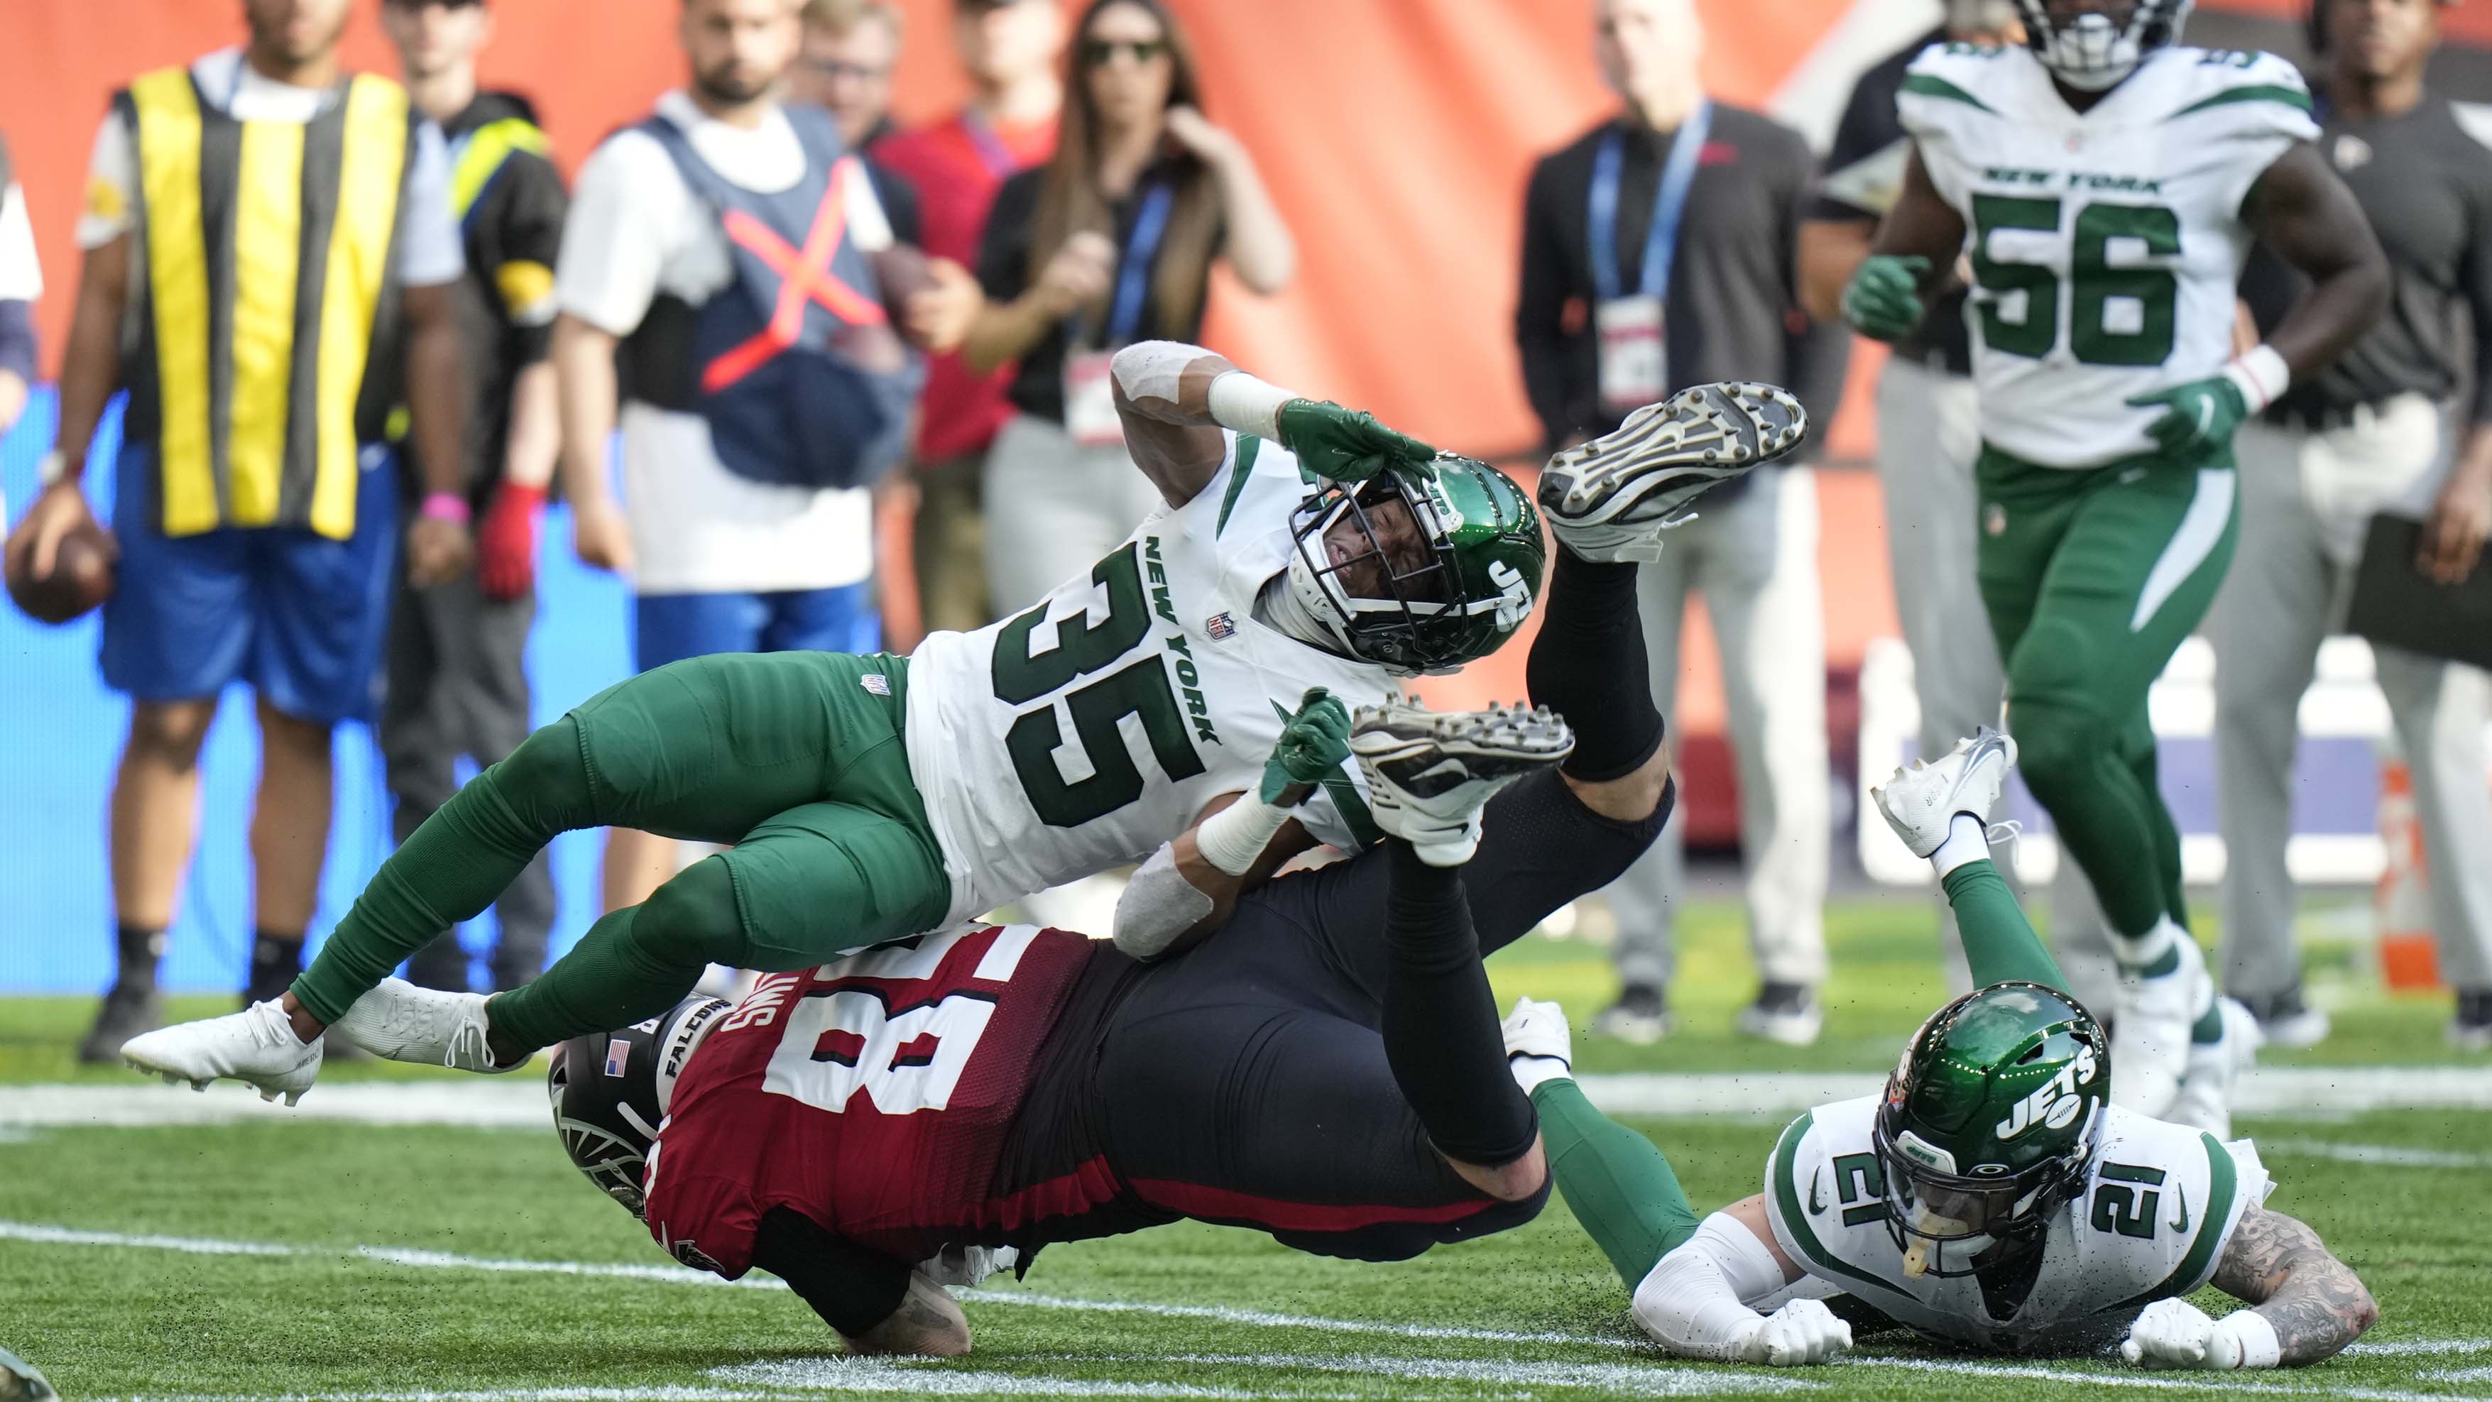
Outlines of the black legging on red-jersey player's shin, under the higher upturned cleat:
<svg viewBox="0 0 2492 1402">
<path fill-rule="evenodd" d="M 1523 667 L 1533 705 L 1575 727 L 1565 772 L 1587 784 L 1622 779 L 1662 747 L 1635 570 L 1595 565 L 1560 545 L 1540 637 Z"/>
</svg>

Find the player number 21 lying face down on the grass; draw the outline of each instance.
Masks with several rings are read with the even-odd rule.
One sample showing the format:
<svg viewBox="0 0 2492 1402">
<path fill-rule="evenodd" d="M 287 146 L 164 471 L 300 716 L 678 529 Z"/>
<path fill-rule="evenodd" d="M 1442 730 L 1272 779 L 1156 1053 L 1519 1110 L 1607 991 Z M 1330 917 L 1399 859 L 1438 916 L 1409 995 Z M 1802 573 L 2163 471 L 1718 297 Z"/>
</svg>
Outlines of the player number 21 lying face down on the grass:
<svg viewBox="0 0 2492 1402">
<path fill-rule="evenodd" d="M 1991 1352 L 2118 1340 L 2143 1367 L 2235 1370 L 2325 1360 L 2377 1320 L 2352 1270 L 2265 1208 L 2255 1146 L 2111 1106 L 2116 1051 L 1989 862 L 1981 814 L 2014 760 L 1984 730 L 1876 792 L 1939 869 L 1981 989 L 1921 1023 L 1881 1096 L 1782 1131 L 1762 1193 L 1697 1223 L 1650 1141 L 1590 1118 L 1565 1016 L 1508 1019 L 1558 1190 L 1670 1352 L 1827 1362 L 1854 1320 L 1891 1320 Z M 2185 1295 L 2210 1282 L 2250 1307 L 2208 1317 Z"/>
</svg>

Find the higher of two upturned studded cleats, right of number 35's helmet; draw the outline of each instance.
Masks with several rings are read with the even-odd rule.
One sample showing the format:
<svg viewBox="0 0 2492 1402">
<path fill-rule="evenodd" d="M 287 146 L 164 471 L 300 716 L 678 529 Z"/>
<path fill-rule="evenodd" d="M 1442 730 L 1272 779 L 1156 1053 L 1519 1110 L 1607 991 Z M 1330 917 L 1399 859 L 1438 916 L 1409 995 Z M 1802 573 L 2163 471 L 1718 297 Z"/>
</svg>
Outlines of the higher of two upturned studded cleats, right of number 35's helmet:
<svg viewBox="0 0 2492 1402">
<path fill-rule="evenodd" d="M 1700 383 L 1627 416 L 1540 468 L 1540 510 L 1592 563 L 1660 560 L 1695 498 L 1809 436 L 1799 401 L 1769 383 Z"/>
</svg>

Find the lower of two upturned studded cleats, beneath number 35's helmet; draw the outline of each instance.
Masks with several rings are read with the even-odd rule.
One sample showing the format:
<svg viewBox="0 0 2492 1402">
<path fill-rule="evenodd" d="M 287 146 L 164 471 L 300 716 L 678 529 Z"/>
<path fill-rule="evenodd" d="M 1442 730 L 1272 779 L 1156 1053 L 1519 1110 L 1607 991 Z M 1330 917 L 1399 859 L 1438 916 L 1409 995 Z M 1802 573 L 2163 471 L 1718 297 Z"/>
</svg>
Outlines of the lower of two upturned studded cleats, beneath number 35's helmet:
<svg viewBox="0 0 2492 1402">
<path fill-rule="evenodd" d="M 1505 784 L 1553 769 L 1575 752 L 1558 712 L 1488 707 L 1430 712 L 1393 700 L 1358 710 L 1351 755 L 1368 777 L 1376 827 L 1430 867 L 1460 867 L 1480 849 L 1480 809 Z"/>
</svg>

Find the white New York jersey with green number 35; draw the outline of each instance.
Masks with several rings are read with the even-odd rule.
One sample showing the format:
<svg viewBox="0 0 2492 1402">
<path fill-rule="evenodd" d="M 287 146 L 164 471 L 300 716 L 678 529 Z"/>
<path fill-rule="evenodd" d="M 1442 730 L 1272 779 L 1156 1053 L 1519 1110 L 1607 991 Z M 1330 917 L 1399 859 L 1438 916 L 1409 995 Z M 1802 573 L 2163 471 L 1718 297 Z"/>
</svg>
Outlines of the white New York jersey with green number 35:
<svg viewBox="0 0 2492 1402">
<path fill-rule="evenodd" d="M 1253 792 L 1306 687 L 1351 710 L 1398 692 L 1383 667 L 1253 618 L 1306 491 L 1286 448 L 1231 433 L 1211 486 L 1087 578 L 917 645 L 910 772 L 952 872 L 947 921 L 1141 862 L 1206 802 Z M 1376 839 L 1356 765 L 1296 817 L 1333 847 Z"/>
</svg>

